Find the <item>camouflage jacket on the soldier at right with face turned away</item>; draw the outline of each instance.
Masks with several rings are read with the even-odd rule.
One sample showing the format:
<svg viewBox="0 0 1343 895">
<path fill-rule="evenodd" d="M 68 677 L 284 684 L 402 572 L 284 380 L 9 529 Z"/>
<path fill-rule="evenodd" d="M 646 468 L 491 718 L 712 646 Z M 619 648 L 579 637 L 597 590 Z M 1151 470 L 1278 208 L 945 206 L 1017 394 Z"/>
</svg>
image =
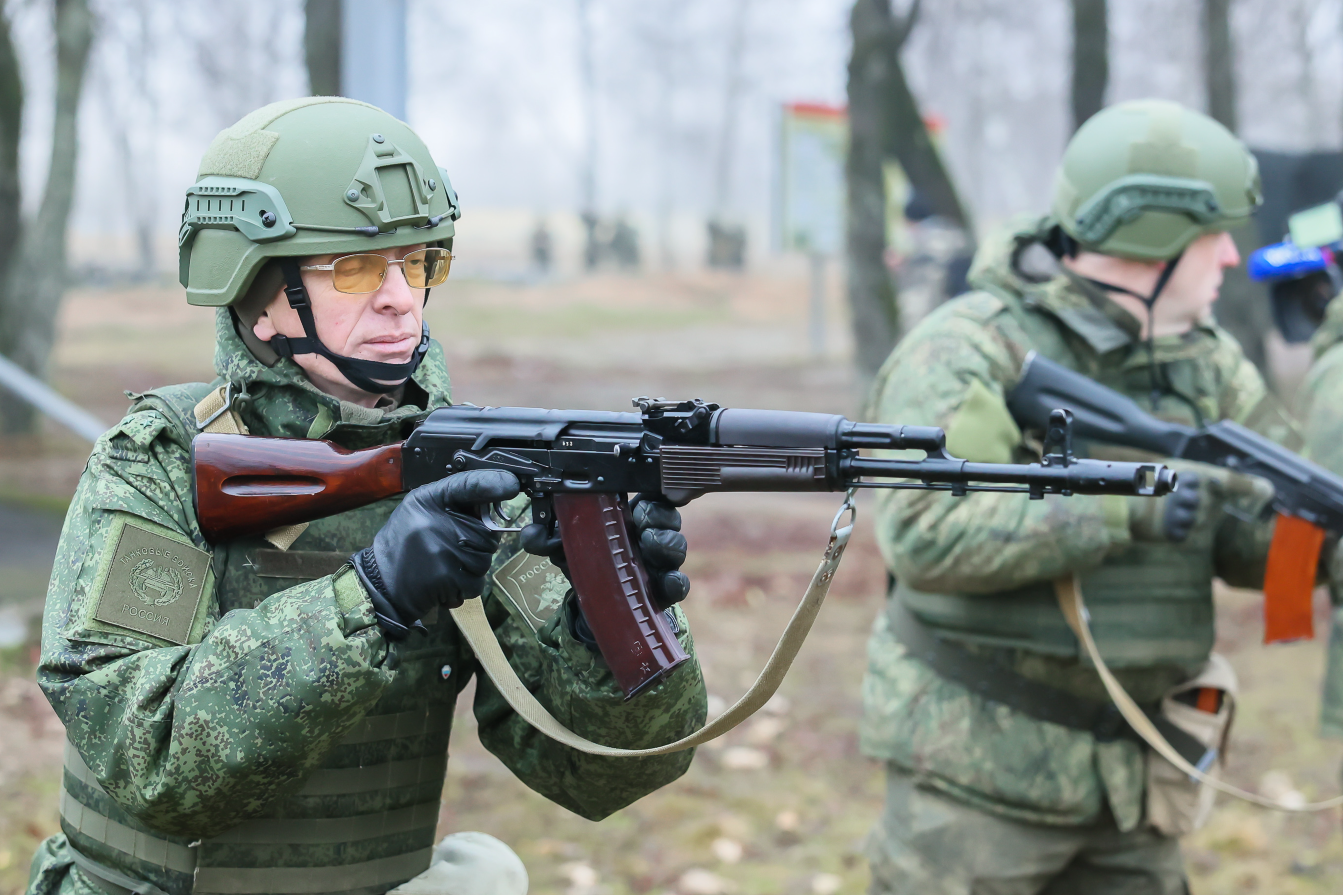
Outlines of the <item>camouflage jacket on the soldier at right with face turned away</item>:
<svg viewBox="0 0 1343 895">
<path fill-rule="evenodd" d="M 1037 434 L 1005 403 L 1030 351 L 1150 406 L 1151 364 L 1139 323 L 1096 288 L 1064 273 L 1031 281 L 1010 263 L 1023 222 L 975 259 L 975 292 L 937 308 L 881 370 L 869 414 L 881 422 L 941 426 L 948 450 L 986 462 L 1033 462 Z M 1042 250 L 1041 250 L 1042 251 Z M 1268 399 L 1236 341 L 1206 321 L 1155 341 L 1167 391 L 1158 414 L 1195 423 L 1237 419 L 1285 438 L 1291 425 Z M 1103 446 L 1093 456 L 1136 460 Z M 1250 480 L 1237 516 L 1270 496 Z M 1213 644 L 1211 579 L 1262 579 L 1272 525 L 1203 512 L 1182 544 L 1135 543 L 1136 497 L 885 491 L 877 540 L 898 601 L 936 634 L 1019 675 L 1108 701 L 1078 661 L 1050 583 L 1081 572 L 1101 653 L 1139 701 L 1191 676 Z M 1205 496 L 1205 501 L 1207 497 Z M 1143 813 L 1144 757 L 1132 740 L 1038 722 L 944 680 L 908 656 L 888 613 L 877 618 L 864 680 L 862 750 L 955 798 L 1007 817 L 1054 825 L 1097 821 L 1120 829 Z"/>
</svg>

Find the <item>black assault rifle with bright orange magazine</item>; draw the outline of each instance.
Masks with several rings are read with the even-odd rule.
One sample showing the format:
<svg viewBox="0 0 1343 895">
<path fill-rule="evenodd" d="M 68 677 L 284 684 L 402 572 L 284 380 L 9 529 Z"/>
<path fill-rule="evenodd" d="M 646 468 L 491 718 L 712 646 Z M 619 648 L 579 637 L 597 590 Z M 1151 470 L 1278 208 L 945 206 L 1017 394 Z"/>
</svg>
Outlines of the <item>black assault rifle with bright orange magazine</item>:
<svg viewBox="0 0 1343 895">
<path fill-rule="evenodd" d="M 1320 547 L 1326 532 L 1343 534 L 1343 478 L 1230 419 L 1202 429 L 1158 419 L 1117 391 L 1031 352 L 1007 409 L 1025 429 L 1048 426 L 1056 407 L 1072 413 L 1077 438 L 1266 478 L 1279 519 L 1264 577 L 1265 641 L 1312 636 L 1309 599 Z"/>
</svg>

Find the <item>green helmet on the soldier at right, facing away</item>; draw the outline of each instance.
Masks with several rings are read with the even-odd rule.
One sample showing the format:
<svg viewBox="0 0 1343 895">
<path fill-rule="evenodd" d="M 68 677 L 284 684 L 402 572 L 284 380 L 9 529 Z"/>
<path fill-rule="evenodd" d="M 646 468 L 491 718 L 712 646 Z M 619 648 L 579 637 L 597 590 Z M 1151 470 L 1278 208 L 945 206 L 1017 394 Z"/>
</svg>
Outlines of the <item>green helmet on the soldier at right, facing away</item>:
<svg viewBox="0 0 1343 895">
<path fill-rule="evenodd" d="M 1258 165 L 1217 121 L 1164 99 L 1120 102 L 1069 141 L 1053 218 L 1080 247 L 1168 261 L 1262 202 Z"/>
</svg>

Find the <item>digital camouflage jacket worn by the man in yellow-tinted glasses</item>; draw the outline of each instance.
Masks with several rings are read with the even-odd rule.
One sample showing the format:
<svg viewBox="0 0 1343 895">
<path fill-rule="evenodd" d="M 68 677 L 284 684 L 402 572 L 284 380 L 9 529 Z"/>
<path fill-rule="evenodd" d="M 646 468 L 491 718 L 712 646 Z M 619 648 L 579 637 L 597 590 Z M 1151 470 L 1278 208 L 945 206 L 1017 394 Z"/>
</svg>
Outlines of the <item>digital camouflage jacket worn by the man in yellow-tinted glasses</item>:
<svg viewBox="0 0 1343 895">
<path fill-rule="evenodd" d="M 402 406 L 384 411 L 318 391 L 289 360 L 262 366 L 226 309 L 216 331 L 216 384 L 246 391 L 238 407 L 254 435 L 361 448 L 403 438 L 449 403 L 438 343 Z M 446 611 L 426 620 L 427 636 L 387 641 L 341 567 L 396 500 L 314 521 L 289 551 L 259 538 L 207 543 L 189 461 L 191 410 L 207 391 L 136 396 L 71 503 L 38 669 L 68 736 L 62 833 L 35 856 L 31 895 L 93 892 L 95 879 L 117 895 L 372 895 L 428 867 L 453 708 L 475 660 Z M 696 663 L 626 703 L 564 610 L 533 633 L 497 594 L 483 599 L 521 679 L 582 735 L 638 749 L 704 722 Z M 591 820 L 692 759 L 577 753 L 514 715 L 483 675 L 474 712 L 481 740 L 520 779 Z"/>
</svg>

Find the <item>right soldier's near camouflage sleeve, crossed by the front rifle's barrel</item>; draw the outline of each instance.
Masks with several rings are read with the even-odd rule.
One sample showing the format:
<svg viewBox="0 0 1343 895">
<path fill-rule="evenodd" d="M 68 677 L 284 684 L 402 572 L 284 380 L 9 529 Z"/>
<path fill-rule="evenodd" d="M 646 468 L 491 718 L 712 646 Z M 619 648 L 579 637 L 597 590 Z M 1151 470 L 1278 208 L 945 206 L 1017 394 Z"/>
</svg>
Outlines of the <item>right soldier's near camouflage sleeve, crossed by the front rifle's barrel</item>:
<svg viewBox="0 0 1343 895">
<path fill-rule="evenodd" d="M 873 413 L 885 423 L 941 426 L 948 449 L 967 460 L 1031 460 L 1003 398 L 1021 351 L 988 318 L 968 313 L 968 301 L 944 305 L 896 348 L 878 375 Z M 888 567 L 935 593 L 1056 578 L 1100 564 L 1129 540 L 1124 499 L 884 491 L 876 503 Z"/>
</svg>

